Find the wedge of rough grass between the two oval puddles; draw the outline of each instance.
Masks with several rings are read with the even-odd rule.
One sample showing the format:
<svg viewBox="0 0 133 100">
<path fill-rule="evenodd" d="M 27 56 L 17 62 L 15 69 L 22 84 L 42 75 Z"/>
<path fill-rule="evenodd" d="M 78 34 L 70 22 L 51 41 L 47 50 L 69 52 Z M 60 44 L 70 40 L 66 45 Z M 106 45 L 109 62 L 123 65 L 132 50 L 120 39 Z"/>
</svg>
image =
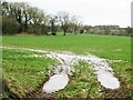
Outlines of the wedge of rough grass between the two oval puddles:
<svg viewBox="0 0 133 100">
<path fill-rule="evenodd" d="M 58 93 L 59 98 L 100 98 L 101 86 L 98 82 L 94 70 L 85 61 L 73 66 L 74 72 L 70 77 L 70 83 Z"/>
</svg>

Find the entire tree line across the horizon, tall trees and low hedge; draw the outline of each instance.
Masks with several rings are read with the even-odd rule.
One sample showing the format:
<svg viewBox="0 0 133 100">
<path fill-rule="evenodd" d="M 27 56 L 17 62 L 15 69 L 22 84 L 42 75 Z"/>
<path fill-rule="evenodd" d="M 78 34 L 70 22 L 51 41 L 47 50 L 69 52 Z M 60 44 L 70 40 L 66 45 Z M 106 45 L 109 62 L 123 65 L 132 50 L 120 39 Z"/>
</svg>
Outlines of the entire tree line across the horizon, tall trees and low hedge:
<svg viewBox="0 0 133 100">
<path fill-rule="evenodd" d="M 91 33 L 110 36 L 133 36 L 133 29 L 110 28 L 98 29 L 83 24 L 78 16 L 70 16 L 66 11 L 60 11 L 57 14 L 48 14 L 37 7 L 31 7 L 25 2 L 0 1 L 2 7 L 2 34 L 52 34 L 57 32 L 71 33 Z"/>
</svg>

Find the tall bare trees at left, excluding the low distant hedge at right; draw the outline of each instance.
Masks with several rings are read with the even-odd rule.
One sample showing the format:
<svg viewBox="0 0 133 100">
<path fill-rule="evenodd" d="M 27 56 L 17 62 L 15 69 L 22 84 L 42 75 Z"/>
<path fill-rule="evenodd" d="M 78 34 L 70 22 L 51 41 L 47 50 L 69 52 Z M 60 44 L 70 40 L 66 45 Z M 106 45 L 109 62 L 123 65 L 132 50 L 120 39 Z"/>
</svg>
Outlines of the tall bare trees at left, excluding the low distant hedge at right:
<svg viewBox="0 0 133 100">
<path fill-rule="evenodd" d="M 58 14 L 47 14 L 42 10 L 31 7 L 24 2 L 0 2 L 2 6 L 2 31 L 3 34 L 16 34 L 21 32 L 34 34 L 55 36 L 60 29 L 65 36 L 66 31 L 74 33 L 81 27 L 81 21 L 76 16 L 61 11 Z"/>
</svg>

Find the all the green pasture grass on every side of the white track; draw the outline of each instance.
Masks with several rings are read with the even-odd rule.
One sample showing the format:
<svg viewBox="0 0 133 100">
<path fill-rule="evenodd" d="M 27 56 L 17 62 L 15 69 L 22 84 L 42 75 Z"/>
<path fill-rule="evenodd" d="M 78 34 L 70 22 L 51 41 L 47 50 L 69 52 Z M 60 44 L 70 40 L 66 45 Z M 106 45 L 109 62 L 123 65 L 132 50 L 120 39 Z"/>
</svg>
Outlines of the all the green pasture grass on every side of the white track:
<svg viewBox="0 0 133 100">
<path fill-rule="evenodd" d="M 130 82 L 131 67 L 131 38 L 120 36 L 91 36 L 91 34 L 68 34 L 68 36 L 3 36 L 3 47 L 32 48 L 50 51 L 68 51 L 76 54 L 94 54 L 108 60 L 122 60 L 120 62 L 109 62 L 113 68 L 114 76 L 124 81 L 122 86 L 125 89 L 132 90 Z M 51 70 L 51 64 L 57 61 L 49 58 L 22 58 L 35 52 L 21 50 L 3 49 L 3 78 L 11 86 L 18 84 L 21 92 L 35 89 L 38 84 L 44 81 L 48 70 Z M 41 54 L 41 53 L 40 53 Z M 11 58 L 12 57 L 12 58 Z M 80 68 L 82 66 L 82 69 Z M 59 97 L 101 97 L 101 92 L 96 92 L 101 87 L 96 81 L 96 77 L 85 62 L 80 62 L 74 66 L 81 70 L 81 73 L 75 72 L 71 76 L 69 86 L 59 92 Z M 131 69 L 131 70 L 130 70 Z M 84 71 L 85 70 L 85 71 Z M 90 74 L 88 74 L 88 72 Z M 43 72 L 42 74 L 40 72 Z M 23 76 L 24 73 L 24 76 Z M 40 73 L 39 76 L 37 76 Z M 19 76 L 18 76 L 19 74 Z M 88 79 L 91 78 L 91 79 Z M 21 78 L 21 80 L 20 80 Z M 34 80 L 33 80 L 34 79 Z M 12 82 L 13 81 L 13 82 Z M 88 81 L 91 81 L 88 83 Z M 75 84 L 75 86 L 74 86 Z M 91 89 L 91 86 L 94 87 Z M 11 88 L 16 91 L 16 87 Z M 28 86 L 28 89 L 25 88 Z M 9 86 L 10 87 L 10 86 Z M 88 89 L 86 89 L 88 88 Z M 89 89 L 91 89 L 89 91 Z M 18 93 L 18 92 L 17 92 Z M 89 94 L 90 93 L 90 94 Z M 20 94 L 20 93 L 18 93 Z M 20 94 L 23 96 L 23 94 Z M 130 96 L 130 93 L 129 93 Z"/>
</svg>

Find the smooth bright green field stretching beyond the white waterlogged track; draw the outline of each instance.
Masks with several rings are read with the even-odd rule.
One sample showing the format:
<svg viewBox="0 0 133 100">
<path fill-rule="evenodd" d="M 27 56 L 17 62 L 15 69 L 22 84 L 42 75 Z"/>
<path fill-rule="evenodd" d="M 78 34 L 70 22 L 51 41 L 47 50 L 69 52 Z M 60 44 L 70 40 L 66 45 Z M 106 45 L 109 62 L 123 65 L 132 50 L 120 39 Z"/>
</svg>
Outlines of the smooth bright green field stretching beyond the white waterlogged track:
<svg viewBox="0 0 133 100">
<path fill-rule="evenodd" d="M 3 46 L 92 53 L 112 60 L 131 60 L 131 38 L 117 36 L 4 36 Z"/>
</svg>

